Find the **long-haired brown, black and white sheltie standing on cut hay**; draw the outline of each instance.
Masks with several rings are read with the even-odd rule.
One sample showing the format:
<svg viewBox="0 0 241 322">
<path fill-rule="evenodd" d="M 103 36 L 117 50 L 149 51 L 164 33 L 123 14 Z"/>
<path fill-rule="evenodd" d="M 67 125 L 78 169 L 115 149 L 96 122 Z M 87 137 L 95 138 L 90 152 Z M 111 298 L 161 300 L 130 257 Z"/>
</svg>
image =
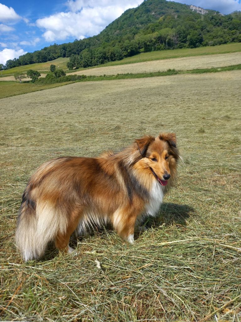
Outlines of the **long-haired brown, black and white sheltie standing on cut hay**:
<svg viewBox="0 0 241 322">
<path fill-rule="evenodd" d="M 104 223 L 133 243 L 136 222 L 158 212 L 178 158 L 175 134 L 160 133 L 136 139 L 118 153 L 44 163 L 31 176 L 19 209 L 16 245 L 24 260 L 42 256 L 49 241 L 72 252 L 74 231 L 83 234 Z"/>
</svg>

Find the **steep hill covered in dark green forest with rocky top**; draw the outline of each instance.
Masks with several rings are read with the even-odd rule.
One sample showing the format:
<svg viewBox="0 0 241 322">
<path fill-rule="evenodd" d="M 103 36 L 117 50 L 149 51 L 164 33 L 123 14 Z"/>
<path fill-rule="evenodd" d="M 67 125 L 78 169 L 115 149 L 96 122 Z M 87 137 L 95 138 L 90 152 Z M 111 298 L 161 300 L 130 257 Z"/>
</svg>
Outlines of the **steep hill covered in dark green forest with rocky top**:
<svg viewBox="0 0 241 322">
<path fill-rule="evenodd" d="M 128 9 L 97 36 L 51 45 L 18 59 L 5 68 L 70 57 L 68 68 L 89 67 L 121 60 L 140 51 L 213 46 L 241 42 L 241 12 L 221 15 L 165 0 L 145 0 Z"/>
</svg>

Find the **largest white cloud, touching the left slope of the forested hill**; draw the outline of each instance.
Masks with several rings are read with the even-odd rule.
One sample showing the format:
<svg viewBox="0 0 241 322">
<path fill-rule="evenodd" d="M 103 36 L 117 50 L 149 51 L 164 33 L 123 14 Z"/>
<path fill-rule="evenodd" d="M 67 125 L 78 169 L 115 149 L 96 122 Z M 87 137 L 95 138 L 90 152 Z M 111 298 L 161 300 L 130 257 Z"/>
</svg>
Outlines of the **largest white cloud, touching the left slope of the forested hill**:
<svg viewBox="0 0 241 322">
<path fill-rule="evenodd" d="M 48 42 L 65 40 L 68 37 L 83 39 L 100 33 L 126 9 L 138 6 L 143 0 L 70 0 L 68 12 L 60 12 L 36 21 L 45 30 L 43 37 Z"/>
</svg>

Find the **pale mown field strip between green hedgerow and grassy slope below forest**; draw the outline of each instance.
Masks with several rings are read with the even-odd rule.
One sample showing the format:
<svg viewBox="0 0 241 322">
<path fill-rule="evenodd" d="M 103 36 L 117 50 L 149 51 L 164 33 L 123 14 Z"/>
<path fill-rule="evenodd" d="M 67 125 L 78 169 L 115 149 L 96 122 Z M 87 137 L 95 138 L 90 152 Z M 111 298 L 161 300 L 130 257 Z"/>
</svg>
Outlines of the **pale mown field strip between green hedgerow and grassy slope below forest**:
<svg viewBox="0 0 241 322">
<path fill-rule="evenodd" d="M 69 74 L 77 75 L 116 75 L 125 73 L 140 73 L 166 71 L 167 69 L 190 70 L 196 68 L 211 68 L 237 65 L 241 63 L 241 52 L 217 55 L 203 55 L 172 59 L 161 59 L 150 62 L 139 62 L 134 64 L 107 66 L 99 68 L 75 71 Z M 68 74 L 68 75 L 69 75 Z"/>
</svg>

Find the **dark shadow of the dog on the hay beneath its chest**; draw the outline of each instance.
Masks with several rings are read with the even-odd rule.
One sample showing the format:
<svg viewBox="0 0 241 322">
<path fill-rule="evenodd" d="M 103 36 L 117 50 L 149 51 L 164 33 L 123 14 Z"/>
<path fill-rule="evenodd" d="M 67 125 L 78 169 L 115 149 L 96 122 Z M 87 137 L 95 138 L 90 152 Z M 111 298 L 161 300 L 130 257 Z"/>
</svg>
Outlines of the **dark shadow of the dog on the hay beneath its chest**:
<svg viewBox="0 0 241 322">
<path fill-rule="evenodd" d="M 160 227 L 161 225 L 186 226 L 186 220 L 190 217 L 190 213 L 194 213 L 194 208 L 189 205 L 163 203 L 157 217 L 148 217 L 146 221 L 144 219 L 143 227 L 145 229 L 140 230 L 140 233 L 148 228 Z"/>
</svg>

